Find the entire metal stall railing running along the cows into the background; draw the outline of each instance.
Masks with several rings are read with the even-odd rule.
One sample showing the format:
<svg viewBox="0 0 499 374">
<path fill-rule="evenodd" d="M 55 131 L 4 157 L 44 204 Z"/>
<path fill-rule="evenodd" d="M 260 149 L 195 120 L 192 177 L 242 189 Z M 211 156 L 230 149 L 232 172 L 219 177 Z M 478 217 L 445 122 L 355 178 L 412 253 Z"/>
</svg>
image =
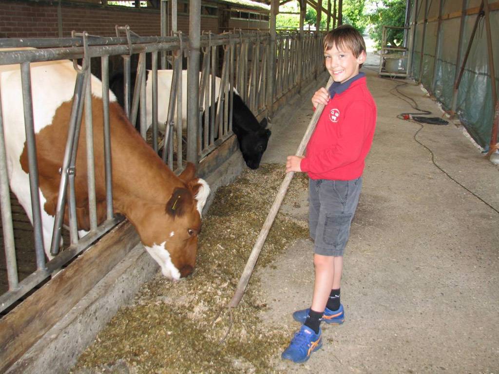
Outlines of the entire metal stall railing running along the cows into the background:
<svg viewBox="0 0 499 374">
<path fill-rule="evenodd" d="M 160 154 L 164 162 L 176 173 L 182 171 L 187 150 L 195 149 L 198 160 L 213 152 L 221 143 L 233 135 L 233 90 L 237 90 L 243 101 L 247 103 L 255 116 L 265 115 L 267 108 L 268 54 L 270 37 L 268 32 L 231 33 L 215 35 L 205 34 L 201 37 L 201 68 L 199 82 L 199 123 L 195 142 L 186 142 L 186 102 L 187 94 L 183 87 L 187 79 L 184 65 L 189 39 L 178 32 L 171 37 L 140 37 L 131 32 L 128 26 L 116 27 L 116 37 L 96 37 L 87 34 L 74 34 L 71 38 L 43 39 L 0 39 L 0 48 L 33 47 L 37 49 L 0 51 L 0 65 L 16 64 L 22 73 L 24 96 L 25 127 L 30 162 L 29 174 L 32 195 L 33 225 L 36 247 L 36 270 L 24 279 L 18 279 L 16 269 L 16 254 L 14 235 L 10 212 L 9 188 L 6 184 L 5 140 L 0 137 L 0 203 L 3 226 L 4 249 L 8 274 L 8 291 L 0 295 L 0 312 L 5 311 L 17 300 L 33 288 L 44 282 L 47 277 L 58 271 L 75 256 L 88 248 L 95 240 L 103 236 L 118 221 L 120 217 L 113 215 L 112 185 L 110 163 L 110 132 L 109 132 L 109 60 L 117 58 L 122 64 L 123 73 L 123 107 L 126 116 L 132 124 L 139 127 L 142 137 Z M 119 36 L 124 32 L 125 36 Z M 274 100 L 297 87 L 298 69 L 301 66 L 302 80 L 308 80 L 317 74 L 318 44 L 322 43 L 322 35 L 316 37 L 306 33 L 303 40 L 298 33 L 282 33 L 276 40 Z M 298 54 L 293 53 L 298 43 L 302 43 L 302 61 Z M 172 69 L 158 69 L 159 56 L 168 54 Z M 134 56 L 135 55 L 135 56 Z M 131 59 L 138 55 L 137 68 L 132 69 Z M 121 57 L 119 57 L 121 56 Z M 189 57 L 187 57 L 188 59 Z M 51 253 L 54 256 L 45 260 L 43 240 L 41 235 L 40 202 L 38 199 L 38 181 L 36 165 L 36 145 L 33 131 L 33 114 L 30 95 L 30 63 L 53 61 L 60 59 L 82 59 L 81 67 L 75 65 L 78 77 L 75 83 L 73 113 L 70 121 L 70 136 L 62 170 L 61 185 L 57 205 L 56 223 L 51 241 Z M 106 220 L 97 221 L 95 207 L 95 171 L 93 159 L 91 130 L 91 95 L 90 95 L 90 65 L 99 61 L 103 85 L 103 101 L 105 121 L 105 156 L 106 156 L 106 189 L 107 212 Z M 150 61 L 150 62 L 149 62 Z M 149 65 L 150 64 L 150 65 Z M 163 64 L 162 64 L 163 65 Z M 149 73 L 147 72 L 149 70 Z M 165 74 L 168 73 L 168 74 Z M 160 102 L 160 87 L 170 87 L 169 94 Z M 168 102 L 168 103 L 167 103 Z M 3 116 L 0 108 L 0 130 L 3 136 Z M 88 194 L 90 211 L 90 231 L 83 237 L 78 237 L 76 214 L 74 214 L 74 160 L 78 144 L 81 118 L 85 116 L 88 124 L 87 164 Z M 139 125 L 140 123 L 140 125 Z M 184 136 L 183 136 L 184 135 Z M 173 141 L 175 139 L 175 142 Z M 67 191 L 67 192 L 66 192 Z M 58 253 L 61 243 L 61 227 L 65 204 L 70 210 L 70 242 L 63 243 L 65 249 Z"/>
</svg>

